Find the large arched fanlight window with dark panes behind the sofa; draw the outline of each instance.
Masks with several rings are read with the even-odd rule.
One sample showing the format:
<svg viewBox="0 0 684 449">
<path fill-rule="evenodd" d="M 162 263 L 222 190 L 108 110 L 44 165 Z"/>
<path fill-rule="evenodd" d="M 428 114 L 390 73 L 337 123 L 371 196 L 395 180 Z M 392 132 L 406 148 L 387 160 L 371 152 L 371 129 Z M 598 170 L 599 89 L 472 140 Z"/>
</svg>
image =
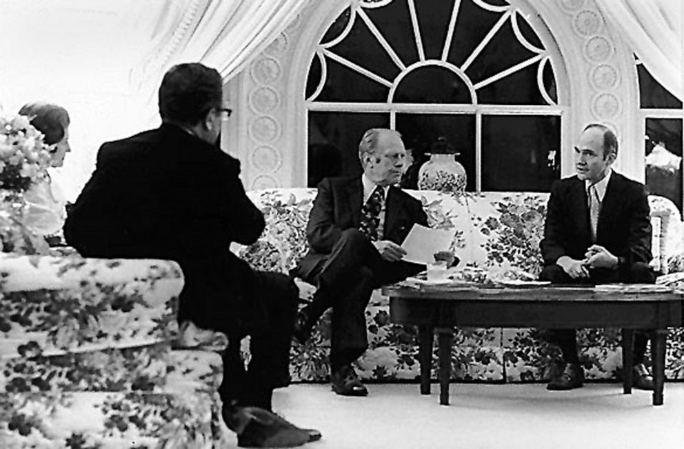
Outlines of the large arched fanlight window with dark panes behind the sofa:
<svg viewBox="0 0 684 449">
<path fill-rule="evenodd" d="M 359 172 L 359 138 L 379 126 L 419 161 L 445 137 L 467 190 L 548 190 L 563 111 L 554 54 L 503 0 L 351 1 L 309 69 L 309 186 Z"/>
</svg>

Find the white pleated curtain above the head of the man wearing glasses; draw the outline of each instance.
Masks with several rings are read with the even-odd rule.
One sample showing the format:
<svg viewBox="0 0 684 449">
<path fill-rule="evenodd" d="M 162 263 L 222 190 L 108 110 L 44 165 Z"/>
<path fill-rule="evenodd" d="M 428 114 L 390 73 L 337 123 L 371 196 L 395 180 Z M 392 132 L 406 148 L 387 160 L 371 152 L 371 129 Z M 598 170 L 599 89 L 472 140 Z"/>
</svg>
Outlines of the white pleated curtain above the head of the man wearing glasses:
<svg viewBox="0 0 684 449">
<path fill-rule="evenodd" d="M 257 57 L 303 9 L 308 0 L 176 0 L 150 10 L 150 50 L 131 73 L 143 114 L 157 114 L 163 74 L 181 62 L 216 68 L 224 80 Z M 144 121 L 144 120 L 143 120 Z"/>
</svg>

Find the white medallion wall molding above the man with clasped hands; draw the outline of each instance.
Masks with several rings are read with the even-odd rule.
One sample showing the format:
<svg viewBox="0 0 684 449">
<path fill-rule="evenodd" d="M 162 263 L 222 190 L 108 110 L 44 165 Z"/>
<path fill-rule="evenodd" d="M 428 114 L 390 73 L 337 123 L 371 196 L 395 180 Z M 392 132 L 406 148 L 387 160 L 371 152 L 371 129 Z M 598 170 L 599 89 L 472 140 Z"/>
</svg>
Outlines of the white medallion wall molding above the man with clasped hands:
<svg viewBox="0 0 684 449">
<path fill-rule="evenodd" d="M 621 142 L 615 166 L 643 181 L 643 137 L 638 137 L 638 80 L 634 56 L 608 26 L 594 0 L 529 0 L 558 42 L 570 77 L 569 136 L 561 171 L 572 174 L 572 142 L 587 123 L 614 128 Z M 579 51 L 578 51 L 579 49 Z"/>
</svg>

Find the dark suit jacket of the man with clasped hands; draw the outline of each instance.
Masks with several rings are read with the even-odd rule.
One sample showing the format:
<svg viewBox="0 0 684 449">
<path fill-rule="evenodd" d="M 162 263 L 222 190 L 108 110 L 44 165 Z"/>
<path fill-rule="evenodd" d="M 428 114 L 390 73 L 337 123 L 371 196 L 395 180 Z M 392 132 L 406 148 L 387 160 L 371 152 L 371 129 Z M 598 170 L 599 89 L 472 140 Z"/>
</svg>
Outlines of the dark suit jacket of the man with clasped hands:
<svg viewBox="0 0 684 449">
<path fill-rule="evenodd" d="M 563 255 L 584 259 L 592 244 L 585 181 L 576 175 L 556 181 L 540 243 L 544 263 L 553 265 Z M 598 215 L 596 244 L 627 263 L 651 260 L 650 208 L 643 184 L 612 172 Z"/>
</svg>

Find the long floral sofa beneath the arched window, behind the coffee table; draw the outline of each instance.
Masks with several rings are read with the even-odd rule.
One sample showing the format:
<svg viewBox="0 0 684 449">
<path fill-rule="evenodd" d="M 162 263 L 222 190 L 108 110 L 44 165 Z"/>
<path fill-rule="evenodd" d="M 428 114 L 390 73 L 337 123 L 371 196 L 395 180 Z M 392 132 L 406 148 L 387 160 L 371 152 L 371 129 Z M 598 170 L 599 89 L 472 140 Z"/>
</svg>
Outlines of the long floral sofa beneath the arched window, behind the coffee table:
<svg viewBox="0 0 684 449">
<path fill-rule="evenodd" d="M 543 235 L 548 194 L 532 192 L 465 193 L 460 196 L 431 190 L 408 190 L 421 199 L 430 226 L 456 230 L 452 249 L 461 258 L 458 275 L 480 280 L 536 277 L 541 271 L 539 240 Z M 248 195 L 263 210 L 267 226 L 252 246 L 233 250 L 255 268 L 288 272 L 307 250 L 305 227 L 316 190 L 292 188 L 258 190 Z M 654 225 L 654 261 L 659 283 L 679 286 L 684 277 L 684 226 L 674 203 L 650 197 Z M 667 274 L 665 274 L 667 273 Z M 313 286 L 300 282 L 301 297 Z M 374 292 L 366 310 L 370 348 L 357 370 L 366 380 L 416 379 L 417 332 L 412 326 L 390 323 L 388 301 Z M 580 332 L 583 363 L 589 379 L 618 379 L 621 349 L 618 329 Z M 684 378 L 684 332 L 673 329 L 667 347 L 666 375 Z M 330 315 L 325 315 L 305 345 L 292 348 L 292 377 L 324 381 L 328 377 Z M 541 381 L 547 379 L 555 348 L 539 330 L 461 328 L 454 337 L 454 379 L 463 381 Z M 436 357 L 434 358 L 436 363 Z M 436 368 L 436 367 L 433 367 Z M 433 369 L 433 377 L 436 371 Z"/>
</svg>

